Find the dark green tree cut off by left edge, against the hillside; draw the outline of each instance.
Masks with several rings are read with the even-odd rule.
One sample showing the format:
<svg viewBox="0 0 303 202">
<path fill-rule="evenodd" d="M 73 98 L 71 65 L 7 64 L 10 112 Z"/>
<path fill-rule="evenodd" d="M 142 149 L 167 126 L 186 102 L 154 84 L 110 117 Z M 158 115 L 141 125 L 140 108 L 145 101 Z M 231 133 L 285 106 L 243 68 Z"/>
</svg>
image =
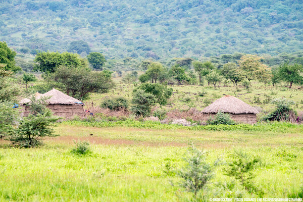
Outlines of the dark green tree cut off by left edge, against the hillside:
<svg viewBox="0 0 303 202">
<path fill-rule="evenodd" d="M 5 65 L 4 69 L 14 73 L 21 70 L 15 63 L 16 52 L 9 48 L 6 42 L 0 41 L 0 64 Z"/>
</svg>

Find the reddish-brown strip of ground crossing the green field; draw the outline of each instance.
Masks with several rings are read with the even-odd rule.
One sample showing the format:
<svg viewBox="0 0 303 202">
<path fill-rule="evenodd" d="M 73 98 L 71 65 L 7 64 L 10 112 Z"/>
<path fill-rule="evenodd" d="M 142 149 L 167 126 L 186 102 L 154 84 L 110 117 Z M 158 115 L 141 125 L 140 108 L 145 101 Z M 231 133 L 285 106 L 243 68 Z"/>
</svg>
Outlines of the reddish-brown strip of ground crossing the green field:
<svg viewBox="0 0 303 202">
<path fill-rule="evenodd" d="M 104 145 L 144 145 L 144 146 L 188 146 L 187 143 L 180 142 L 148 142 L 148 141 L 134 141 L 128 139 L 110 139 L 104 137 L 78 137 L 78 136 L 58 136 L 47 137 L 44 139 L 45 143 L 59 143 L 59 144 L 74 144 L 75 141 L 87 141 L 91 144 Z"/>
</svg>

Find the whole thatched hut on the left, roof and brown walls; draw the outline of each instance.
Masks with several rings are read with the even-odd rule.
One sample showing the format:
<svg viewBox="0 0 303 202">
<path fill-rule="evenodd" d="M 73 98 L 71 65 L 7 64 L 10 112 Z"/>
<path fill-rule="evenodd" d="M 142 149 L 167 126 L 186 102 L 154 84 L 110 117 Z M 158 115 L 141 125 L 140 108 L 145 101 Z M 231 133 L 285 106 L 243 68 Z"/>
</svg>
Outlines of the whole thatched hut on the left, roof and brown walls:
<svg viewBox="0 0 303 202">
<path fill-rule="evenodd" d="M 84 104 L 67 94 L 53 88 L 52 90 L 44 94 L 34 94 L 37 99 L 41 97 L 49 97 L 46 99 L 48 104 L 46 107 L 54 113 L 55 116 L 64 117 L 64 118 L 73 118 L 74 116 L 83 117 L 84 116 Z M 28 105 L 30 103 L 29 98 L 22 99 L 20 105 L 24 106 L 23 116 L 29 114 Z"/>
</svg>

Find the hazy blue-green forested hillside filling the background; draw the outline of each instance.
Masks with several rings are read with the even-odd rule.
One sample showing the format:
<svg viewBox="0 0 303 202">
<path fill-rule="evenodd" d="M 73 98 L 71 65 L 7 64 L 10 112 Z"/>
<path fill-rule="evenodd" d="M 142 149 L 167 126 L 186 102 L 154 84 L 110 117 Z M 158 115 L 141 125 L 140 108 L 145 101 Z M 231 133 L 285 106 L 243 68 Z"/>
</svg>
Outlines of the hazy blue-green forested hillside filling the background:
<svg viewBox="0 0 303 202">
<path fill-rule="evenodd" d="M 0 1 L 0 40 L 17 52 L 101 52 L 107 59 L 293 53 L 301 0 Z M 72 41 L 89 48 L 75 49 Z"/>
</svg>

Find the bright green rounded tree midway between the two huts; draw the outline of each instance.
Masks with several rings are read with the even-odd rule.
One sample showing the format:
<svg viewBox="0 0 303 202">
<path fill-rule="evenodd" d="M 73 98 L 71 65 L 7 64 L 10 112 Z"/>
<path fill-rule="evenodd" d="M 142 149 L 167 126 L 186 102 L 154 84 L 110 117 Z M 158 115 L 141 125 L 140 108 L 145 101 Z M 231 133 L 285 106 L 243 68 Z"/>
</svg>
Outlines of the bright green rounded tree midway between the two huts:
<svg viewBox="0 0 303 202">
<path fill-rule="evenodd" d="M 160 105 L 166 105 L 167 100 L 173 94 L 173 88 L 167 88 L 167 85 L 159 83 L 143 83 L 138 87 L 138 89 L 155 95 L 156 103 L 159 103 Z"/>
</svg>

